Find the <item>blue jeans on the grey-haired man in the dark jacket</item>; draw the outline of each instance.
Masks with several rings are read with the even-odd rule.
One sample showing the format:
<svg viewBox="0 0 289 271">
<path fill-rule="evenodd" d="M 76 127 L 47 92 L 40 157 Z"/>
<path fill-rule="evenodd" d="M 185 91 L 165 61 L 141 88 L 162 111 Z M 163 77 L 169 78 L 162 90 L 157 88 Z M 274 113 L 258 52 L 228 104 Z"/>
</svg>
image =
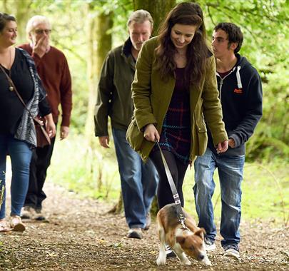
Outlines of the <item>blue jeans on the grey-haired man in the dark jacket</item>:
<svg viewBox="0 0 289 271">
<path fill-rule="evenodd" d="M 134 151 L 126 140 L 126 131 L 112 129 L 118 171 L 121 175 L 123 206 L 128 227 L 146 226 L 146 215 L 156 195 L 158 173 L 148 160 L 143 163 L 141 156 Z"/>
</svg>

